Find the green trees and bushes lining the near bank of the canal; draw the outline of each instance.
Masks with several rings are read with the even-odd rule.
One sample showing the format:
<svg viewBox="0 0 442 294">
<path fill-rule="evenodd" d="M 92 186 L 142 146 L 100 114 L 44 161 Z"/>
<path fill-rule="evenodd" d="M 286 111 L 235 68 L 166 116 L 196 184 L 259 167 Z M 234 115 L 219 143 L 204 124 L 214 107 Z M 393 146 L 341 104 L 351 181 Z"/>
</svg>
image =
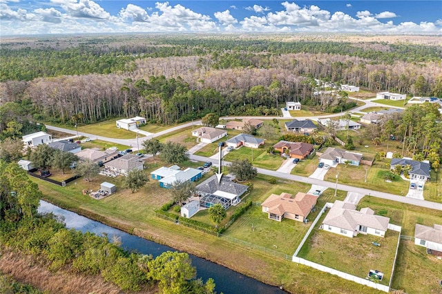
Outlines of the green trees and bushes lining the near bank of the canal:
<svg viewBox="0 0 442 294">
<path fill-rule="evenodd" d="M 0 187 L 3 264 L 8 263 L 4 260 L 9 256 L 6 252 L 12 252 L 31 257 L 29 263 L 45 271 L 70 275 L 82 282 L 83 276 L 96 277 L 122 291 L 149 292 L 160 288 L 162 293 L 214 293 L 213 280 L 204 283 L 195 279 L 196 270 L 187 253 L 167 251 L 155 258 L 131 253 L 119 246 L 118 239 L 109 242 L 106 236 L 68 230 L 54 215 L 38 215 L 39 188 L 15 163 L 0 160 Z M 25 268 L 28 266 L 23 266 L 21 276 L 28 275 Z M 82 282 L 77 286 L 82 288 Z M 78 288 L 68 292 L 75 291 Z"/>
</svg>

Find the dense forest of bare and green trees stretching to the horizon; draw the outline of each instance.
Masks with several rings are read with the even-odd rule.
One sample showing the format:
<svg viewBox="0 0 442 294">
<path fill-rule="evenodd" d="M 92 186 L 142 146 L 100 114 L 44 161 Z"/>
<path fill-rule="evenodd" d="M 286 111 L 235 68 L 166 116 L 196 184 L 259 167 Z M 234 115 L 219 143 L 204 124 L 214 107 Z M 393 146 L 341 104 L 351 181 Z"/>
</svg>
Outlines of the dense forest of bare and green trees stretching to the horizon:
<svg viewBox="0 0 442 294">
<path fill-rule="evenodd" d="M 32 104 L 35 121 L 146 115 L 170 124 L 219 115 L 276 115 L 285 101 L 336 112 L 315 79 L 442 97 L 441 46 L 291 40 L 287 36 L 133 35 L 3 42 L 1 103 Z M 1 128 L 1 126 L 0 126 Z M 4 128 L 2 128 L 4 130 Z"/>
</svg>

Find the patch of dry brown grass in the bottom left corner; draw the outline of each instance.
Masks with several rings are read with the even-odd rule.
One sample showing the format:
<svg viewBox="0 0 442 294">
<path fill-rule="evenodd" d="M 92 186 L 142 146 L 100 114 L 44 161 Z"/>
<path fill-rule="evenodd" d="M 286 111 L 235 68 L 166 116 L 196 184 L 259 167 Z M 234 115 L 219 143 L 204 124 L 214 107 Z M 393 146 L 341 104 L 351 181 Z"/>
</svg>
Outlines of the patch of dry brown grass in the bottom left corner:
<svg viewBox="0 0 442 294">
<path fill-rule="evenodd" d="M 15 292 L 13 289 L 17 289 L 17 285 L 0 283 L 0 293 L 121 293 L 117 286 L 104 282 L 99 275 L 75 275 L 65 271 L 51 273 L 33 257 L 23 255 L 18 251 L 9 251 L 8 248 L 2 248 L 0 272 L 21 284 L 30 284 L 43 291 L 35 291 L 35 288 L 29 286 L 20 286 L 20 292 Z M 3 280 L 3 277 L 1 278 Z"/>
</svg>

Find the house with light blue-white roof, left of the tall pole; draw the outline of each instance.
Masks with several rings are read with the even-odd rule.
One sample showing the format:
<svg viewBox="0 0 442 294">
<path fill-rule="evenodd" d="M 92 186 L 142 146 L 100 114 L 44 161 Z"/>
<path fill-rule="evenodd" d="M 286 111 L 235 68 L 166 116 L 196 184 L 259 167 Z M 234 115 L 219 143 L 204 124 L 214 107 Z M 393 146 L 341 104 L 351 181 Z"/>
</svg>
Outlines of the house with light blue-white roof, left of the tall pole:
<svg viewBox="0 0 442 294">
<path fill-rule="evenodd" d="M 195 182 L 202 177 L 202 170 L 197 168 L 186 168 L 182 170 L 180 166 L 167 168 L 162 166 L 151 173 L 152 179 L 160 182 L 160 187 L 171 188 L 177 182 Z"/>
</svg>

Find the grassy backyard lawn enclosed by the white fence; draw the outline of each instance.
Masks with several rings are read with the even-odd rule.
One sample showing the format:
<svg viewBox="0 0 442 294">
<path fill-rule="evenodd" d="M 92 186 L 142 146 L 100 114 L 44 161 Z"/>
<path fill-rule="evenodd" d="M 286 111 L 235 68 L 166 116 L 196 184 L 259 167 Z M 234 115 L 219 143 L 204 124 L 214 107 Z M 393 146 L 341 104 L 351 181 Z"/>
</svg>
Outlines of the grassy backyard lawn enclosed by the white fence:
<svg viewBox="0 0 442 294">
<path fill-rule="evenodd" d="M 369 270 L 376 269 L 384 273 L 380 283 L 388 285 L 399 233 L 390 230 L 385 237 L 359 234 L 349 238 L 319 229 L 323 217 L 298 257 L 362 278 L 367 277 Z M 374 246 L 372 242 L 381 244 L 381 247 Z"/>
</svg>

